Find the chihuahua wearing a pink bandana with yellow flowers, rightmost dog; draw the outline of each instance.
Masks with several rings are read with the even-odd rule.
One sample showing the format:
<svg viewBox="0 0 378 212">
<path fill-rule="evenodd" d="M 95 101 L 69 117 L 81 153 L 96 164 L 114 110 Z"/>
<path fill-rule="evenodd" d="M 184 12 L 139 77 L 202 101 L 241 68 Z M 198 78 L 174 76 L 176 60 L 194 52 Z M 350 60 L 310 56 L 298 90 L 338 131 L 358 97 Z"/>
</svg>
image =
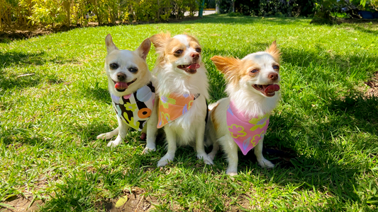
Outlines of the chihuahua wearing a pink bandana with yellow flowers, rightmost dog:
<svg viewBox="0 0 378 212">
<path fill-rule="evenodd" d="M 238 174 L 238 151 L 245 155 L 254 148 L 261 167 L 274 167 L 262 156 L 262 141 L 269 114 L 281 97 L 279 92 L 280 52 L 274 41 L 265 52 L 248 54 L 243 59 L 214 56 L 216 68 L 226 77 L 228 98 L 209 105 L 208 139 L 216 140 L 209 158 L 221 144 L 228 159 L 228 175 Z"/>
</svg>

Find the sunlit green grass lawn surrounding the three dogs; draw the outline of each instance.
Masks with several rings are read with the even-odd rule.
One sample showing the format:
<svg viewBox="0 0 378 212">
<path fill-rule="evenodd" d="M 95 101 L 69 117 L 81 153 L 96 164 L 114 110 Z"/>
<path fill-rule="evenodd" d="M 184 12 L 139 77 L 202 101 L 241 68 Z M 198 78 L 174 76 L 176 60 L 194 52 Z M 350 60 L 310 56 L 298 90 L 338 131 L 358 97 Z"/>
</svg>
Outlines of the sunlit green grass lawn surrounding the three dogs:
<svg viewBox="0 0 378 212">
<path fill-rule="evenodd" d="M 377 25 L 309 22 L 213 15 L 0 43 L 0 203 L 18 195 L 43 199 L 43 211 L 105 211 L 132 192 L 157 199 L 156 211 L 376 211 L 378 98 L 365 98 L 364 82 L 378 71 Z M 277 40 L 282 101 L 265 136 L 265 156 L 277 167 L 262 169 L 253 154 L 240 154 L 232 178 L 222 153 L 209 166 L 187 147 L 160 169 L 162 139 L 148 155 L 136 131 L 114 149 L 96 140 L 117 126 L 105 36 L 135 49 L 166 30 L 199 38 L 210 102 L 226 96 L 212 56 L 241 58 Z M 150 69 L 155 59 L 152 49 Z M 25 73 L 34 75 L 18 77 Z"/>
</svg>

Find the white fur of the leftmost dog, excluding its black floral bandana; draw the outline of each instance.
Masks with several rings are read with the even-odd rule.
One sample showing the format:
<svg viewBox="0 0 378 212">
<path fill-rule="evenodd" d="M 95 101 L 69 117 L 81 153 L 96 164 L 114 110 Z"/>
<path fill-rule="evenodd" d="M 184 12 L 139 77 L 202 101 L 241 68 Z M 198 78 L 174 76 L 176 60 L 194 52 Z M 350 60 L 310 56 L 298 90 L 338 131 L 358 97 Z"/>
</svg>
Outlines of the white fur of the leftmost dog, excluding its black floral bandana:
<svg viewBox="0 0 378 212">
<path fill-rule="evenodd" d="M 145 44 L 145 45 L 143 45 Z M 128 95 L 131 93 L 134 93 L 139 88 L 142 88 L 146 84 L 148 84 L 150 81 L 152 81 L 152 84 L 154 86 L 157 85 L 157 81 L 155 78 L 152 78 L 152 74 L 150 73 L 150 70 L 148 69 L 148 65 L 145 61 L 145 57 L 147 57 L 148 51 L 150 47 L 150 40 L 145 40 L 138 49 L 135 49 L 135 51 L 129 51 L 129 50 L 119 50 L 116 45 L 114 45 L 113 40 L 111 39 L 111 35 L 109 34 L 106 36 L 106 49 L 108 51 L 108 54 L 106 56 L 105 61 L 105 70 L 106 75 L 108 76 L 108 89 L 109 93 L 116 95 L 118 97 L 121 97 L 123 95 Z M 109 64 L 116 63 L 119 65 L 119 68 L 116 70 L 112 70 L 109 68 Z M 128 68 L 130 66 L 138 68 L 137 73 L 131 73 L 128 71 Z M 131 82 L 136 79 L 136 81 L 126 90 L 123 92 L 118 92 L 114 88 L 114 82 L 118 81 L 117 73 L 124 73 L 126 75 L 126 82 Z M 158 101 L 158 96 L 155 95 L 155 102 Z M 118 146 L 123 140 L 126 138 L 126 135 L 128 134 L 128 129 L 130 128 L 123 120 L 116 116 L 118 120 L 118 127 L 114 129 L 113 131 L 110 131 L 105 134 L 100 134 L 97 136 L 97 139 L 112 139 L 113 136 L 117 135 L 116 140 L 109 141 L 108 146 L 109 147 L 115 147 Z M 143 133 L 147 132 L 147 144 L 145 147 L 145 150 L 143 153 L 148 153 L 148 151 L 155 151 L 155 139 L 156 139 L 156 133 L 157 133 L 157 103 L 155 103 L 154 108 L 152 110 L 152 114 L 150 119 L 148 119 L 148 122 L 145 125 L 145 128 L 143 129 Z M 147 129 L 146 129 L 147 128 Z"/>
</svg>

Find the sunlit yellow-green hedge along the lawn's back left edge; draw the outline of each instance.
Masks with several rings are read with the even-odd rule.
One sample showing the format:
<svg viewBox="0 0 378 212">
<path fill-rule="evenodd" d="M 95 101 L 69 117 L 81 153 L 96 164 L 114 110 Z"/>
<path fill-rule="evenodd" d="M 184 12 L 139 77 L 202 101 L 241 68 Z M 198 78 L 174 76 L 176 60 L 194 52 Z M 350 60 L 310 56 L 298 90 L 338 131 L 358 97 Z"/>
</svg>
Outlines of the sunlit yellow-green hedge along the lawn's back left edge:
<svg viewBox="0 0 378 212">
<path fill-rule="evenodd" d="M 99 25 L 182 18 L 199 10 L 198 0 L 0 0 L 0 30 L 19 25 Z"/>
</svg>

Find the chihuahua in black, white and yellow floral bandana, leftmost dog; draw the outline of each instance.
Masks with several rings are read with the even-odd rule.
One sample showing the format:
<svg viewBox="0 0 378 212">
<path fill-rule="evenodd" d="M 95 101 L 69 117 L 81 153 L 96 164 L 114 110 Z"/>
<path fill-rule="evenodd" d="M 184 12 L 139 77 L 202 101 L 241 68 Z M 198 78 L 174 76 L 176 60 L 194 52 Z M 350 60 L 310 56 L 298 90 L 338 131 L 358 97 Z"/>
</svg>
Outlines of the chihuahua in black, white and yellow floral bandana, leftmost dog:
<svg viewBox="0 0 378 212">
<path fill-rule="evenodd" d="M 144 40 L 135 51 L 119 50 L 109 34 L 105 38 L 105 44 L 108 52 L 105 70 L 118 127 L 108 133 L 100 134 L 97 139 L 111 139 L 118 134 L 116 140 L 108 143 L 111 147 L 118 146 L 126 138 L 128 129 L 132 127 L 142 131 L 142 137 L 147 131 L 147 145 L 143 152 L 155 151 L 157 132 L 155 101 L 158 98 L 154 88 L 156 82 L 146 63 L 151 42 L 149 39 Z"/>
</svg>

